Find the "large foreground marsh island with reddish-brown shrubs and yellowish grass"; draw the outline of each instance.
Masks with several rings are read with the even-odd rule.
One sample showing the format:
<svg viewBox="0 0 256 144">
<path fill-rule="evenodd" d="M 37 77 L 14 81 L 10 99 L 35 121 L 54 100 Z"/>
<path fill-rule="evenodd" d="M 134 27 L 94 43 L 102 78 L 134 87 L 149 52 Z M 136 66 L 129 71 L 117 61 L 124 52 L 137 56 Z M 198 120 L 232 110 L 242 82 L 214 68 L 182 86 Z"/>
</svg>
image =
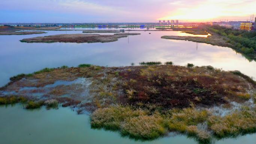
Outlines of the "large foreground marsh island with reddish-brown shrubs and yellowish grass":
<svg viewBox="0 0 256 144">
<path fill-rule="evenodd" d="M 92 128 L 147 140 L 177 132 L 211 143 L 256 132 L 256 82 L 250 77 L 193 64 L 140 65 L 80 64 L 19 74 L 0 88 L 0 104 L 89 111 Z"/>
</svg>

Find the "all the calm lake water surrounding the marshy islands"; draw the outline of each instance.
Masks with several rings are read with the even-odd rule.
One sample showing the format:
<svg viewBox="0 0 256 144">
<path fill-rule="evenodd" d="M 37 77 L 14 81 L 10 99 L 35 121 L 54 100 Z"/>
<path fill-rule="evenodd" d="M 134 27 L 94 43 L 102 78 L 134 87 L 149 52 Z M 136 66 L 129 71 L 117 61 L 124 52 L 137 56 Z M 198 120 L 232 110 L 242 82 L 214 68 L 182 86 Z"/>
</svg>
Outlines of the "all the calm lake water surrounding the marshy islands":
<svg viewBox="0 0 256 144">
<path fill-rule="evenodd" d="M 89 30 L 90 28 L 83 28 Z M 99 28 L 94 28 L 98 30 Z M 125 29 L 125 28 L 121 28 Z M 129 28 L 131 29 L 131 28 Z M 145 30 L 134 28 L 134 30 Z M 104 30 L 102 28 L 101 30 Z M 107 30 L 109 30 L 107 28 Z M 114 28 L 114 30 L 116 30 Z M 256 62 L 248 61 L 231 48 L 180 40 L 161 39 L 164 35 L 193 36 L 179 31 L 135 31 L 137 36 L 111 43 L 21 43 L 19 40 L 52 34 L 75 34 L 82 31 L 46 31 L 46 34 L 0 36 L 0 86 L 9 77 L 32 73 L 45 67 L 77 66 L 89 63 L 101 66 L 126 66 L 141 61 L 173 61 L 176 65 L 212 65 L 223 70 L 240 70 L 256 77 Z M 149 34 L 151 33 L 151 34 Z M 113 34 L 113 33 L 99 33 Z M 21 105 L 0 107 L 1 144 L 197 144 L 185 135 L 135 141 L 118 132 L 90 128 L 87 115 L 77 115 L 70 108 L 24 110 Z M 255 144 L 256 134 L 216 141 L 216 144 Z"/>
</svg>

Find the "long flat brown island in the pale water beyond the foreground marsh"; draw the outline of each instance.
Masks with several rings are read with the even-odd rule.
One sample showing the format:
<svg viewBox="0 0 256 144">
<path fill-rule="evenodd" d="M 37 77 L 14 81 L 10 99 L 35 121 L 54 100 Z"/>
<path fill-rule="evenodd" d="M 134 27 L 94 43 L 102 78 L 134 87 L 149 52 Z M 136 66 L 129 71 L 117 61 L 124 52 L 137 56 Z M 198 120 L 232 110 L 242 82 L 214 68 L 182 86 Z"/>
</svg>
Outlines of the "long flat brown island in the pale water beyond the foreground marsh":
<svg viewBox="0 0 256 144">
<path fill-rule="evenodd" d="M 44 37 L 33 37 L 28 39 L 22 39 L 21 42 L 26 43 L 94 43 L 94 42 L 115 42 L 119 38 L 127 37 L 125 35 L 100 35 L 100 34 L 57 34 Z"/>
</svg>

